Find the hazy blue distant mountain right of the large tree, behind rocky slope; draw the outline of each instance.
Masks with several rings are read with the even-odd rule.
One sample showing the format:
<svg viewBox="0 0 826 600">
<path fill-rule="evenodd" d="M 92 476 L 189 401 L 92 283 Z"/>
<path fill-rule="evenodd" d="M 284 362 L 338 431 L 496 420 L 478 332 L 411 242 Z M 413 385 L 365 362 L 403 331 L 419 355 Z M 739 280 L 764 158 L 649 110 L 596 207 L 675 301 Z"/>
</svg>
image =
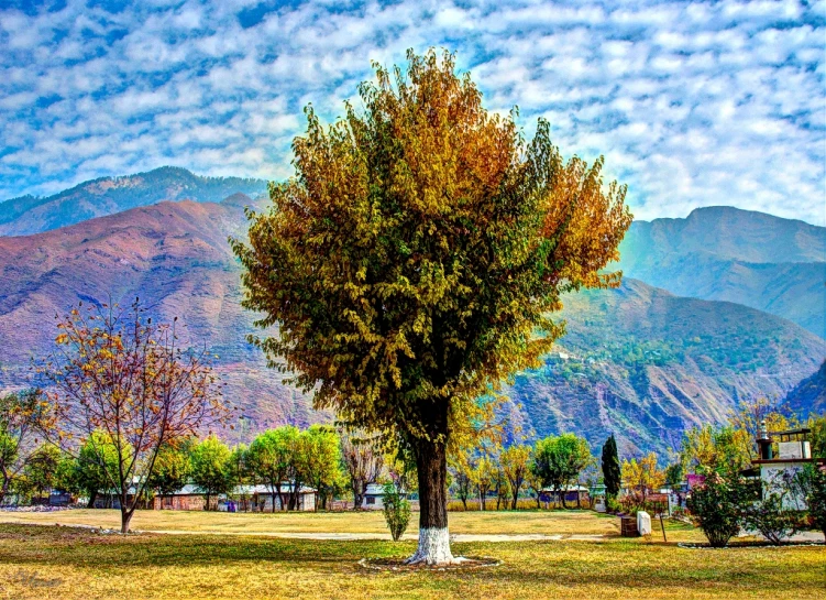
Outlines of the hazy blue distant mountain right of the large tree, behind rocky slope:
<svg viewBox="0 0 826 600">
<path fill-rule="evenodd" d="M 826 338 L 826 228 L 731 207 L 635 221 L 619 266 L 681 296 L 736 302 Z"/>
</svg>

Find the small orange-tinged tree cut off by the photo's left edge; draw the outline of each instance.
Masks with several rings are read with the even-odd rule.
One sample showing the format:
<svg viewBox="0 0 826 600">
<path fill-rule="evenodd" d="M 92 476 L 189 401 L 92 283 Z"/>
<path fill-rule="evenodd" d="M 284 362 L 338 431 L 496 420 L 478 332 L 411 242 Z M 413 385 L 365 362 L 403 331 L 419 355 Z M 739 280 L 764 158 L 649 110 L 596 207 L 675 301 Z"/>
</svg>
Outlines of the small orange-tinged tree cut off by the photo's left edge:
<svg viewBox="0 0 826 600">
<path fill-rule="evenodd" d="M 23 474 L 49 428 L 46 397 L 36 390 L 0 396 L 0 503 L 12 483 Z"/>
</svg>

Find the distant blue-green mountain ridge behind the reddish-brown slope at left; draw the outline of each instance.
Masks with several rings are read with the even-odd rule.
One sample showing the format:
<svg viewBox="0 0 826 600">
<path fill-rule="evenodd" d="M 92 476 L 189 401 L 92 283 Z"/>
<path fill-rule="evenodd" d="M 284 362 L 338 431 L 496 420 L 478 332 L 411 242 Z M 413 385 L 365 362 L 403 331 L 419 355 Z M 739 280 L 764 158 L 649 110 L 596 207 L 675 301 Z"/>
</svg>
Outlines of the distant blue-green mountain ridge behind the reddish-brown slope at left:
<svg viewBox="0 0 826 600">
<path fill-rule="evenodd" d="M 163 200 L 219 203 L 235 193 L 254 197 L 266 187 L 262 179 L 201 177 L 173 166 L 101 177 L 45 198 L 23 196 L 0 203 L 0 236 L 40 233 Z"/>
</svg>

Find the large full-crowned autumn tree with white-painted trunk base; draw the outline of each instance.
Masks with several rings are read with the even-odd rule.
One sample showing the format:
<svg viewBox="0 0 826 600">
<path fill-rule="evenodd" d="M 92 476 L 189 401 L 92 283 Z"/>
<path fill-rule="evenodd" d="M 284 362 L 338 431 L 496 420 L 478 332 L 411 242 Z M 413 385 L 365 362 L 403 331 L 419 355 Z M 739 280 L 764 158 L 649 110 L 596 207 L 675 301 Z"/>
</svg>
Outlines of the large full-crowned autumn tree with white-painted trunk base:
<svg viewBox="0 0 826 600">
<path fill-rule="evenodd" d="M 419 547 L 450 563 L 447 451 L 515 371 L 564 331 L 561 296 L 619 283 L 604 273 L 630 225 L 603 160 L 564 162 L 540 120 L 527 142 L 488 113 L 454 57 L 375 65 L 363 108 L 322 127 L 311 107 L 296 176 L 233 240 L 244 306 L 278 336 L 256 342 L 352 427 L 416 457 Z M 279 357 L 284 360 L 279 360 Z"/>
</svg>

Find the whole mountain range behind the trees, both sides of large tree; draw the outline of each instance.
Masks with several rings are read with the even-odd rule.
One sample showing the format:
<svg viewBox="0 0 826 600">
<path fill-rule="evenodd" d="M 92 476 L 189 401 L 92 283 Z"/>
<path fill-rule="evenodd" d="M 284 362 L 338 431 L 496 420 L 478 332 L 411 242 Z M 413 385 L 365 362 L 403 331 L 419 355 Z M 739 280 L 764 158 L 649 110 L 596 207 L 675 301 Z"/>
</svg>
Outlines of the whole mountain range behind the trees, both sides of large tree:
<svg viewBox="0 0 826 600">
<path fill-rule="evenodd" d="M 115 181 L 131 183 L 100 193 Z M 245 339 L 254 315 L 240 306 L 240 268 L 227 239 L 244 234 L 243 207 L 263 206 L 265 187 L 162 168 L 81 184 L 14 218 L 2 211 L 9 203 L 0 204 L 7 227 L 0 237 L 0 389 L 25 384 L 32 358 L 53 345 L 56 314 L 79 301 L 125 304 L 140 296 L 158 318 L 178 316 L 188 336 L 218 356 L 224 395 L 242 415 L 225 432 L 231 439 L 283 423 L 329 421 Z M 73 211 L 73 203 L 85 208 Z M 130 203 L 136 206 L 121 209 Z M 64 216 L 41 219 L 49 207 Z M 107 216 L 80 220 L 86 214 Z M 16 234 L 26 228 L 37 232 Z M 541 369 L 518 373 L 506 386 L 504 410 L 525 430 L 576 432 L 595 449 L 615 433 L 625 455 L 673 448 L 685 427 L 720 422 L 738 401 L 758 395 L 784 397 L 803 386 L 796 408 L 823 410 L 826 340 L 817 335 L 818 310 L 819 323 L 824 315 L 811 298 L 823 298 L 817 269 L 825 233 L 722 207 L 635 222 L 621 248 L 629 276 L 618 290 L 564 298 L 566 335 Z M 768 303 L 789 276 L 779 265 L 815 265 L 815 279 L 808 286 L 802 276 L 794 280 L 775 294 L 783 302 Z M 800 296 L 806 302 L 796 302 Z"/>
</svg>

